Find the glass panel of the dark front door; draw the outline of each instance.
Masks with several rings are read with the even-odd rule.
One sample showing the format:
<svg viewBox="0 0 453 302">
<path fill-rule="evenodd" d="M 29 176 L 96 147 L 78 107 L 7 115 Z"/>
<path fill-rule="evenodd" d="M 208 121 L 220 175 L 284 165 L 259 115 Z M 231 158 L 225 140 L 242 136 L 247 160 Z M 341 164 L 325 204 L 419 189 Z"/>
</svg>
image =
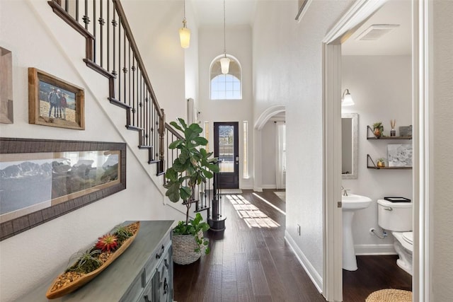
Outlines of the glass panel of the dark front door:
<svg viewBox="0 0 453 302">
<path fill-rule="evenodd" d="M 219 126 L 220 172 L 234 172 L 234 127 Z"/>
</svg>

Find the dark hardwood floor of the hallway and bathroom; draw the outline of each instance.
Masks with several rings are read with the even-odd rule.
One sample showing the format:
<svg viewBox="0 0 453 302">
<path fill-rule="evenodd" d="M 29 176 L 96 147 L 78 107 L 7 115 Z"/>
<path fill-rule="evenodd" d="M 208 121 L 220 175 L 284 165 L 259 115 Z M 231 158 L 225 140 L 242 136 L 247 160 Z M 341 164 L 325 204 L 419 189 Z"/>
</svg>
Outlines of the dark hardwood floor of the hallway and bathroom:
<svg viewBox="0 0 453 302">
<path fill-rule="evenodd" d="M 285 211 L 285 202 L 273 190 L 255 194 Z M 255 194 L 243 190 L 231 198 L 223 196 L 226 230 L 208 231 L 209 255 L 191 265 L 174 265 L 175 301 L 326 301 L 285 243 L 285 214 Z M 411 278 L 408 283 L 396 267 L 396 257 L 381 257 L 359 257 L 360 269 L 343 271 L 344 301 L 365 301 L 377 289 L 411 288 Z M 369 273 L 373 267 L 378 272 Z M 390 281 L 394 275 L 398 280 Z"/>
</svg>

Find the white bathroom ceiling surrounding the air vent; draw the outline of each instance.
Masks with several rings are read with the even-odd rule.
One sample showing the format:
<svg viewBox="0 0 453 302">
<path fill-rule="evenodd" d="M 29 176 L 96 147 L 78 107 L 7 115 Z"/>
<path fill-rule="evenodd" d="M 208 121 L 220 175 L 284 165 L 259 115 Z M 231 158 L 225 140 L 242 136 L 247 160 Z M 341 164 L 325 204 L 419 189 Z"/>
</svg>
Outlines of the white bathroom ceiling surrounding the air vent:
<svg viewBox="0 0 453 302">
<path fill-rule="evenodd" d="M 399 24 L 378 40 L 355 40 L 372 24 Z M 343 55 L 410 55 L 411 54 L 411 1 L 391 0 L 374 13 L 341 45 Z"/>
</svg>

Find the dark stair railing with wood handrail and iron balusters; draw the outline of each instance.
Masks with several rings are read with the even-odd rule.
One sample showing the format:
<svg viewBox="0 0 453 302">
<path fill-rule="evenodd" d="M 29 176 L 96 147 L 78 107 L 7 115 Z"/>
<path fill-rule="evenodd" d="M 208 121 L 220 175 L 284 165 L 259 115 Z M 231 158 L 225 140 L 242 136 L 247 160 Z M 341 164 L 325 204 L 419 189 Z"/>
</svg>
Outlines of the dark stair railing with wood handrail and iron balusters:
<svg viewBox="0 0 453 302">
<path fill-rule="evenodd" d="M 54 13 L 85 38 L 86 66 L 108 79 L 108 100 L 125 110 L 125 127 L 138 134 L 138 148 L 148 151 L 148 164 L 156 164 L 163 175 L 178 157 L 168 145 L 180 134 L 166 123 L 164 109 L 157 101 L 142 57 L 119 0 L 51 0 Z M 214 183 L 197 187 L 195 212 L 207 211 L 211 200 L 217 204 Z M 217 203 L 215 202 L 217 200 Z M 212 219 L 217 219 L 214 214 Z"/>
</svg>

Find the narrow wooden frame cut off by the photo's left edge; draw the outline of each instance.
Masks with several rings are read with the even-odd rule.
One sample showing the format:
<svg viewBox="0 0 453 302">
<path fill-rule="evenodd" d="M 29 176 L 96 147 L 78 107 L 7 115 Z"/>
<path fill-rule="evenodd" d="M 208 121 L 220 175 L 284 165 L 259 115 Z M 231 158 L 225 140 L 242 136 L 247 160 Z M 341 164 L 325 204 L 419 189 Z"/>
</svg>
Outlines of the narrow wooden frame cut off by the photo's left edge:
<svg viewBox="0 0 453 302">
<path fill-rule="evenodd" d="M 13 124 L 13 54 L 0 47 L 0 123 Z"/>
</svg>

